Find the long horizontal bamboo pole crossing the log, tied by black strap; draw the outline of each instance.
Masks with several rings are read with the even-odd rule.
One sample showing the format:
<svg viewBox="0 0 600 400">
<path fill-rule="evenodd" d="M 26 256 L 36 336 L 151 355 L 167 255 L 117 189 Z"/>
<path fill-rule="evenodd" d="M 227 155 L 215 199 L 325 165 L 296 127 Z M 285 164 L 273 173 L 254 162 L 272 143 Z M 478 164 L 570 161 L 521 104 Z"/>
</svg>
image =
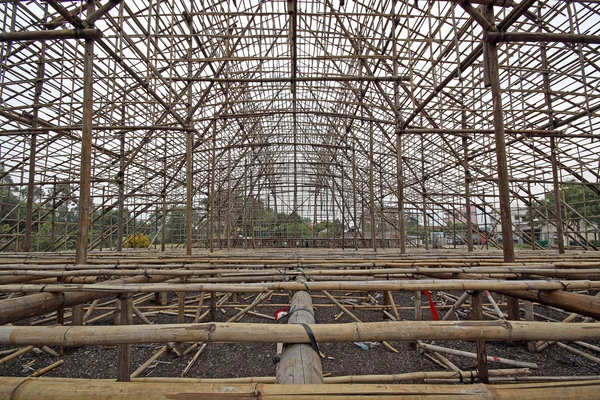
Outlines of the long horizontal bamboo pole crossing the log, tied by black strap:
<svg viewBox="0 0 600 400">
<path fill-rule="evenodd" d="M 314 324 L 317 342 L 600 339 L 600 324 L 533 321 L 397 321 Z M 0 326 L 0 344 L 84 346 L 168 342 L 309 343 L 301 325 Z"/>
</svg>

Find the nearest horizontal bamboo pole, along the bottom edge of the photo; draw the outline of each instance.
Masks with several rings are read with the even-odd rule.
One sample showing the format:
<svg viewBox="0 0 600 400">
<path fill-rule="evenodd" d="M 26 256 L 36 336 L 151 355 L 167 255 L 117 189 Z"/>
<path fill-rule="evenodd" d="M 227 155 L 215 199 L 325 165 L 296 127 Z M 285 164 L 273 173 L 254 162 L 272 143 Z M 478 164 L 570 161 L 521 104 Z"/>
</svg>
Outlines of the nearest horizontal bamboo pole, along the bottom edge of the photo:
<svg viewBox="0 0 600 400">
<path fill-rule="evenodd" d="M 521 383 L 506 385 L 423 385 L 423 384 L 331 384 L 331 385 L 273 385 L 263 383 L 202 384 L 181 382 L 113 382 L 90 379 L 59 378 L 0 378 L 0 398 L 12 400 L 85 399 L 115 400 L 143 398 L 145 400 L 174 398 L 219 399 L 326 399 L 377 398 L 406 400 L 427 399 L 478 400 L 549 398 L 592 399 L 600 389 L 599 380 Z M 360 396 L 357 396 L 360 395 Z"/>
</svg>

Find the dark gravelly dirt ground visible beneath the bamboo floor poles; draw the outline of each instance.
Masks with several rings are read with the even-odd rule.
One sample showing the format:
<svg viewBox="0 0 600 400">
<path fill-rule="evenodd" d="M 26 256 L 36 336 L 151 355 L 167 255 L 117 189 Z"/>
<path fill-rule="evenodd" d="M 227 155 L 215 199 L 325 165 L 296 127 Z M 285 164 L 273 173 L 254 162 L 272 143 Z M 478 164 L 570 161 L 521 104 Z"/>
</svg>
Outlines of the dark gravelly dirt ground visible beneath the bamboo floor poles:
<svg viewBox="0 0 600 400">
<path fill-rule="evenodd" d="M 190 294 L 193 296 L 194 294 Z M 342 294 L 343 295 L 343 294 Z M 360 294 L 347 294 L 351 296 L 361 296 Z M 381 301 L 381 293 L 374 293 Z M 247 296 L 244 300 L 242 296 L 238 299 L 243 304 L 249 304 L 254 297 Z M 271 303 L 285 303 L 288 297 L 274 296 Z M 411 309 L 400 309 L 400 317 L 406 320 L 414 319 L 414 293 L 400 292 L 394 294 L 395 302 L 399 307 L 411 307 Z M 350 300 L 351 302 L 352 300 Z M 361 300 L 357 304 L 362 304 Z M 315 298 L 314 303 L 326 303 L 323 298 Z M 269 302 L 266 302 L 267 304 Z M 205 303 L 205 309 L 208 301 Z M 427 298 L 423 296 L 423 320 L 431 320 L 431 313 Z M 439 303 L 438 303 L 439 304 Z M 144 305 L 151 305 L 149 301 Z M 272 315 L 274 307 L 260 306 L 255 311 L 267 315 Z M 237 313 L 233 308 L 223 309 L 217 312 L 218 321 L 226 321 Z M 174 311 L 174 310 L 172 310 Z M 544 315 L 554 316 L 557 319 L 564 318 L 566 314 L 560 314 L 554 310 L 545 307 L 536 306 L 536 312 Z M 106 310 L 95 311 L 93 316 L 100 315 Z M 382 321 L 384 315 L 381 311 L 354 310 L 355 315 L 364 322 Z M 440 310 L 440 316 L 445 312 Z M 316 311 L 317 323 L 335 323 L 334 316 L 339 310 L 334 307 L 318 307 Z M 391 310 L 390 310 L 391 313 Z M 461 319 L 469 319 L 467 313 L 460 315 Z M 151 321 L 157 324 L 176 323 L 177 317 L 174 315 L 159 314 L 150 317 Z M 453 318 L 455 319 L 455 318 Z M 206 319 L 205 319 L 206 321 Z M 192 322 L 187 318 L 186 322 Z M 262 317 L 246 315 L 241 322 L 273 324 L 272 320 Z M 352 322 L 352 320 L 343 315 L 338 323 Z M 21 321 L 24 324 L 26 321 Z M 112 324 L 113 317 L 107 317 L 97 324 Z M 134 318 L 134 323 L 140 323 Z M 393 353 L 380 343 L 367 343 L 369 350 L 364 350 L 354 343 L 320 343 L 320 349 L 325 354 L 322 360 L 324 374 L 331 376 L 342 375 L 364 375 L 364 374 L 400 374 L 417 371 L 441 371 L 442 368 L 425 356 L 417 352 L 414 343 L 391 342 L 398 353 Z M 436 341 L 433 344 L 453 349 L 459 349 L 469 352 L 475 352 L 474 342 L 465 341 Z M 579 350 L 598 357 L 589 350 L 570 344 Z M 598 345 L 598 343 L 596 343 Z M 187 344 L 184 348 L 187 348 Z M 132 346 L 132 371 L 146 361 L 153 353 L 162 348 L 162 344 L 133 345 Z M 0 351 L 10 349 L 7 346 L 0 346 Z M 57 350 L 55 348 L 55 350 Z M 198 358 L 193 368 L 186 377 L 190 378 L 233 378 L 250 376 L 274 376 L 275 365 L 272 357 L 276 352 L 275 344 L 209 344 Z M 505 342 L 488 342 L 487 352 L 489 356 L 497 356 L 512 360 L 520 360 L 536 363 L 539 368 L 532 369 L 533 376 L 590 376 L 600 375 L 600 364 L 585 359 L 580 355 L 573 354 L 557 346 L 550 346 L 541 353 L 530 353 L 524 344 L 512 345 Z M 178 357 L 173 352 L 168 352 L 152 363 L 140 377 L 179 377 L 185 369 L 188 362 L 194 356 L 195 351 L 190 354 Z M 474 359 L 461 356 L 446 355 L 446 357 L 465 371 L 476 369 Z M 96 378 L 96 379 L 115 379 L 116 378 L 116 349 L 110 346 L 85 346 L 79 348 L 68 348 L 60 357 L 64 364 L 47 373 L 48 377 L 71 377 L 71 378 Z M 27 376 L 34 370 L 43 368 L 57 361 L 57 358 L 45 353 L 36 354 L 29 351 L 13 360 L 0 364 L 1 376 Z M 490 369 L 495 368 L 514 368 L 504 366 L 498 363 L 490 363 Z M 408 381 L 411 382 L 411 381 Z M 419 383 L 419 381 L 412 381 Z"/>
</svg>

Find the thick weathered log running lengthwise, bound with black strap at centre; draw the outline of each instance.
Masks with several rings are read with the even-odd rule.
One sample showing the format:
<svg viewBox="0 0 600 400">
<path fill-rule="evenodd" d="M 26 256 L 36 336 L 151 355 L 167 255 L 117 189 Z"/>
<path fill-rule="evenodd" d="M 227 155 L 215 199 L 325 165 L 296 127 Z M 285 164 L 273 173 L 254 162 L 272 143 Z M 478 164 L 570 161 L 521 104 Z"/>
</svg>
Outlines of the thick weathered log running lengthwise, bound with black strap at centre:
<svg viewBox="0 0 600 400">
<path fill-rule="evenodd" d="M 296 279 L 304 282 L 303 277 Z M 296 310 L 296 311 L 295 311 Z M 297 291 L 292 297 L 288 324 L 314 324 L 312 299 L 308 292 Z M 323 367 L 319 354 L 309 344 L 293 344 L 284 349 L 277 364 L 278 384 L 323 383 Z"/>
</svg>

